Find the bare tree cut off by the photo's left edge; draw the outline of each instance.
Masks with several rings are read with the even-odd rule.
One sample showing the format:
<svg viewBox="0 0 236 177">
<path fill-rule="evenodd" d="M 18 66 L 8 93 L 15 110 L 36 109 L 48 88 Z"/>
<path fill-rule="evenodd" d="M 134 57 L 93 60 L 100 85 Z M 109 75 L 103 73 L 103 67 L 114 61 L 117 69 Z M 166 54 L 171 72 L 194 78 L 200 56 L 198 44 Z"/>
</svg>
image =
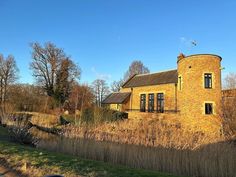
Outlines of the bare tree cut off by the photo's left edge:
<svg viewBox="0 0 236 177">
<path fill-rule="evenodd" d="M 18 68 L 15 59 L 9 55 L 4 59 L 0 54 L 0 102 L 2 112 L 5 111 L 5 102 L 7 100 L 9 86 L 18 78 Z"/>
</svg>

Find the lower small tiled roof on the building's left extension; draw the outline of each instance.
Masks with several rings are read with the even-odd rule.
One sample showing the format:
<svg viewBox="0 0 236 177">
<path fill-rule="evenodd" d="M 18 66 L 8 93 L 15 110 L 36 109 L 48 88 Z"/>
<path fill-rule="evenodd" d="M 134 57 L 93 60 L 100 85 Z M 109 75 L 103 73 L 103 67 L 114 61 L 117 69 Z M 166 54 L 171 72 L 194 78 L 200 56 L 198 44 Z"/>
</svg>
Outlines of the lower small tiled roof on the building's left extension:
<svg viewBox="0 0 236 177">
<path fill-rule="evenodd" d="M 129 98 L 130 94 L 131 94 L 130 92 L 111 93 L 102 101 L 102 103 L 103 104 L 122 104 Z"/>
</svg>

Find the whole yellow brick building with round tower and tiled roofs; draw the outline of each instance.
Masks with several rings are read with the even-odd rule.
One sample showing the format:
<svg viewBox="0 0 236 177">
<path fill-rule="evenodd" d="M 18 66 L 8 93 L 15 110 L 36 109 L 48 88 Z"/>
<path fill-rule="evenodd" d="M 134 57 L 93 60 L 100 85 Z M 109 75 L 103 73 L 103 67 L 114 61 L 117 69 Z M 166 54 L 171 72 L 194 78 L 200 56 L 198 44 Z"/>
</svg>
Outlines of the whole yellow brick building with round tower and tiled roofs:
<svg viewBox="0 0 236 177">
<path fill-rule="evenodd" d="M 212 54 L 177 58 L 177 69 L 134 75 L 103 104 L 119 111 L 177 113 L 184 117 L 221 114 L 221 60 Z"/>
</svg>

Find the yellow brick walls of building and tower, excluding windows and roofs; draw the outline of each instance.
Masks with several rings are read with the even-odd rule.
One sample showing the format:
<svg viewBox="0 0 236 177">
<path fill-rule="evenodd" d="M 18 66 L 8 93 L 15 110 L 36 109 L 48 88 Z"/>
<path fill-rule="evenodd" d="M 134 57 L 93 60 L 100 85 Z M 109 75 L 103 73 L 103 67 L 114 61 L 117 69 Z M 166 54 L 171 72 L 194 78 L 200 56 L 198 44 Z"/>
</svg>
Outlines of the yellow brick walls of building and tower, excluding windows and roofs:
<svg viewBox="0 0 236 177">
<path fill-rule="evenodd" d="M 208 54 L 187 57 L 181 55 L 178 57 L 177 69 L 178 77 L 181 77 L 178 79 L 178 84 L 122 88 L 120 92 L 131 92 L 131 96 L 125 104 L 119 106 L 119 110 L 132 110 L 132 115 L 138 114 L 140 95 L 146 94 L 147 111 L 150 93 L 154 93 L 154 110 L 156 110 L 157 93 L 164 93 L 164 109 L 167 112 L 176 111 L 179 113 L 178 116 L 183 118 L 219 118 L 222 107 L 221 58 Z M 212 76 L 211 88 L 205 88 L 204 74 L 206 73 Z M 213 105 L 213 114 L 205 114 L 205 103 Z M 113 105 L 113 108 L 117 106 Z M 134 113 L 135 110 L 137 113 Z"/>
</svg>

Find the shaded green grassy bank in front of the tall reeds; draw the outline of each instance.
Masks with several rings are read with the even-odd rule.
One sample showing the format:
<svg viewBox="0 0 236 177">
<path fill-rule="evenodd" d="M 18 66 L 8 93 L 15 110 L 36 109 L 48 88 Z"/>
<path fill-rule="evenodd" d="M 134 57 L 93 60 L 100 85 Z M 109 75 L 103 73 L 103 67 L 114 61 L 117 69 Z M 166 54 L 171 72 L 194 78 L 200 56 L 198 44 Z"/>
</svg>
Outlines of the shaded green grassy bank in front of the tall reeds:
<svg viewBox="0 0 236 177">
<path fill-rule="evenodd" d="M 9 148 L 3 150 L 3 146 Z M 92 160 L 79 159 L 74 156 L 62 155 L 59 153 L 47 152 L 44 150 L 34 149 L 30 147 L 20 146 L 17 144 L 1 142 L 1 153 L 4 155 L 12 154 L 17 156 L 18 160 L 28 160 L 30 164 L 44 169 L 45 171 L 53 171 L 53 168 L 59 168 L 62 174 L 70 171 L 76 175 L 85 176 L 130 176 L 130 177 L 174 177 L 173 175 L 162 174 L 154 171 L 130 169 L 120 165 L 111 165 Z"/>
</svg>

